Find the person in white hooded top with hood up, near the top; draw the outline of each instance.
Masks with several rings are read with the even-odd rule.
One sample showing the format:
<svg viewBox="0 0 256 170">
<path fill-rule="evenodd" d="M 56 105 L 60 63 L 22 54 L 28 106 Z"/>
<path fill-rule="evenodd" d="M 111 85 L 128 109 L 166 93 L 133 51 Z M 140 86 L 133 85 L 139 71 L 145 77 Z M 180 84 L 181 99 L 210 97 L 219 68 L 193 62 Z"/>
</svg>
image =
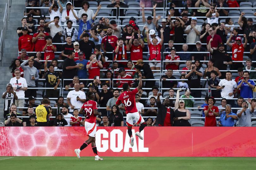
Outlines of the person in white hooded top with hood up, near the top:
<svg viewBox="0 0 256 170">
<path fill-rule="evenodd" d="M 72 3 L 67 2 L 66 6 L 65 6 L 65 10 L 62 12 L 62 15 L 61 15 L 61 22 L 63 22 L 64 25 L 66 25 L 66 22 L 68 20 L 71 20 L 72 22 L 76 22 L 77 12 L 76 12 L 76 10 L 73 10 L 73 9 L 74 9 L 74 7 L 73 7 Z"/>
</svg>

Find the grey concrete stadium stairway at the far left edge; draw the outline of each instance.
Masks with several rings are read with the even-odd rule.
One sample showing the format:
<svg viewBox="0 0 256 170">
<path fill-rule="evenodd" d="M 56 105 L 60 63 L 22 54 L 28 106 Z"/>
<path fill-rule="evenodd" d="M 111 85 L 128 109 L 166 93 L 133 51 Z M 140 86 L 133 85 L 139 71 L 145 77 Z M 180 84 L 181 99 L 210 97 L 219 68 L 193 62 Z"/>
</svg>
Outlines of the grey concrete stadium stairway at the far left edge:
<svg viewBox="0 0 256 170">
<path fill-rule="evenodd" d="M 3 15 L 5 10 L 6 0 L 0 1 L 0 30 L 3 29 Z M 24 14 L 25 1 L 24 0 L 12 0 L 8 30 L 6 32 L 5 47 L 3 49 L 2 67 L 0 68 L 0 92 L 1 95 L 6 91 L 6 84 L 9 83 L 12 78 L 9 66 L 12 59 L 18 56 L 18 35 L 16 33 L 17 27 L 21 26 L 21 19 Z M 3 122 L 3 103 L 4 100 L 0 100 L 0 122 Z M 1 125 L 0 125 L 1 126 Z"/>
</svg>

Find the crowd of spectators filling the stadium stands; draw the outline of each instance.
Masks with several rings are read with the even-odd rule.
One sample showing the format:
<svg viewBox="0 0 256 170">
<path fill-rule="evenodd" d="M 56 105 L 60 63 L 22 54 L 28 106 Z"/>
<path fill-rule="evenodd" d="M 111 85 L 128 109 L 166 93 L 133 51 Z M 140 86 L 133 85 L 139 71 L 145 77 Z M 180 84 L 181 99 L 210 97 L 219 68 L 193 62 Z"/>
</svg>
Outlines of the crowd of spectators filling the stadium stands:
<svg viewBox="0 0 256 170">
<path fill-rule="evenodd" d="M 147 126 L 252 126 L 256 13 L 227 9 L 244 1 L 127 2 L 27 1 L 2 96 L 5 126 L 82 126 L 87 92 L 102 113 L 97 126 L 124 126 L 115 103 L 140 73 L 135 101 Z"/>
</svg>

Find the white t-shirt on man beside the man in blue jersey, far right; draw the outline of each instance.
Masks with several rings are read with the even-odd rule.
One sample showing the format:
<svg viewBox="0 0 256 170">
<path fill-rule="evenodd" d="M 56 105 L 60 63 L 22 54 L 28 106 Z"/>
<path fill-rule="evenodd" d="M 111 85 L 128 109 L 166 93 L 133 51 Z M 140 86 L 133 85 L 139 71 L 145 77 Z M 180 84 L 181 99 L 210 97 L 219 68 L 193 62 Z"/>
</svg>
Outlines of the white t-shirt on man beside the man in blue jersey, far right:
<svg viewBox="0 0 256 170">
<path fill-rule="evenodd" d="M 234 94 L 232 96 L 229 96 L 229 93 L 234 92 L 234 88 L 237 88 L 237 84 L 234 80 L 227 80 L 227 79 L 222 79 L 219 82 L 219 86 L 225 86 L 221 90 L 221 97 L 222 98 L 234 98 Z"/>
</svg>

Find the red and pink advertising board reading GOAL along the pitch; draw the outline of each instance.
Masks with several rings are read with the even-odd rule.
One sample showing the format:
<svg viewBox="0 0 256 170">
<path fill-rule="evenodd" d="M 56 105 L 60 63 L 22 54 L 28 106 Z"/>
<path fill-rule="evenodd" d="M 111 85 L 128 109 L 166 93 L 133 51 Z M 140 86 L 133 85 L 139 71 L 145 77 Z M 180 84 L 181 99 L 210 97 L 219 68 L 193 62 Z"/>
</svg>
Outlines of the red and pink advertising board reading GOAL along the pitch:
<svg viewBox="0 0 256 170">
<path fill-rule="evenodd" d="M 126 127 L 97 127 L 98 154 L 105 156 L 255 157 L 250 127 L 146 127 L 134 146 Z M 138 127 L 132 129 L 133 136 Z M 76 156 L 88 137 L 84 127 L 0 127 L 0 156 Z M 239 138 L 238 138 L 239 137 Z M 94 156 L 91 147 L 80 156 Z"/>
</svg>

